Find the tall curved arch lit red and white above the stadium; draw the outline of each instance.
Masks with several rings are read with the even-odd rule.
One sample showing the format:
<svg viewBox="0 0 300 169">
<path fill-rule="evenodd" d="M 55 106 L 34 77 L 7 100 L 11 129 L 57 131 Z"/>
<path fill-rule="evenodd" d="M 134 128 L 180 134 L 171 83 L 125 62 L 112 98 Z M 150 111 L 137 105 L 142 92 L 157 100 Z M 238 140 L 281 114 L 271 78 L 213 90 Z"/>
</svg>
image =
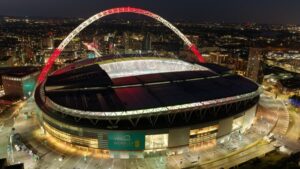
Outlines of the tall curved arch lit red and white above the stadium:
<svg viewBox="0 0 300 169">
<path fill-rule="evenodd" d="M 187 37 L 183 35 L 175 26 L 173 26 L 170 22 L 165 20 L 164 18 L 160 17 L 159 15 L 156 15 L 150 11 L 139 9 L 139 8 L 133 8 L 133 7 L 119 7 L 119 8 L 112 8 L 108 9 L 102 12 L 99 12 L 87 20 L 85 20 L 83 23 L 81 23 L 77 28 L 75 28 L 62 42 L 61 44 L 54 50 L 52 55 L 50 56 L 49 60 L 47 61 L 46 65 L 42 69 L 39 77 L 38 77 L 38 83 L 41 83 L 45 80 L 49 70 L 51 69 L 52 65 L 54 64 L 54 61 L 56 58 L 60 55 L 60 53 L 63 51 L 63 49 L 69 44 L 69 42 L 84 28 L 86 28 L 88 25 L 93 23 L 94 21 L 103 18 L 108 15 L 118 14 L 118 13 L 135 13 L 135 14 L 141 14 L 148 16 L 150 18 L 153 18 L 162 24 L 164 24 L 166 27 L 171 29 L 174 33 L 176 33 L 183 41 L 184 43 L 189 47 L 189 49 L 197 56 L 197 59 L 200 63 L 205 62 L 204 58 L 201 56 L 200 52 L 198 51 L 196 45 L 191 43 Z"/>
</svg>

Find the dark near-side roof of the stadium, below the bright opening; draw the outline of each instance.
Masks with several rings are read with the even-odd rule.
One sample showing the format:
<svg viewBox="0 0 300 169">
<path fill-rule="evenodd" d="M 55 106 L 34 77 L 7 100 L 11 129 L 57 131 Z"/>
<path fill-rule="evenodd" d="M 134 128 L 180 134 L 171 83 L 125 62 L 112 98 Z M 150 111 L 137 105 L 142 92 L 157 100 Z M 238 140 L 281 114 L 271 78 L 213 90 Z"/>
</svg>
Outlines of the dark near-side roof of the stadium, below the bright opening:
<svg viewBox="0 0 300 169">
<path fill-rule="evenodd" d="M 227 69 L 215 66 L 213 71 Z M 64 107 L 112 112 L 214 100 L 258 89 L 241 76 L 214 72 L 195 70 L 110 79 L 94 64 L 48 77 L 45 91 L 51 100 Z"/>
</svg>

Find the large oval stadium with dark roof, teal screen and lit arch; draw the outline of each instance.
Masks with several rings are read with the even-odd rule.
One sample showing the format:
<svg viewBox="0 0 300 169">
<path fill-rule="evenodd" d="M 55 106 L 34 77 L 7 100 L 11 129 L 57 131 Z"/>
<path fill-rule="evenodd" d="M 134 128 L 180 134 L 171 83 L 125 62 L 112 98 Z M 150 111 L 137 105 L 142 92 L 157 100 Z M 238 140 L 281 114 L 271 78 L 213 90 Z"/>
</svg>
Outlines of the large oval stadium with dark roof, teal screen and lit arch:
<svg viewBox="0 0 300 169">
<path fill-rule="evenodd" d="M 128 7 L 112 11 L 141 12 Z M 243 132 L 255 118 L 259 86 L 227 68 L 201 62 L 189 41 L 197 63 L 157 54 L 109 55 L 48 75 L 66 44 L 54 51 L 35 91 L 42 127 L 63 142 L 129 156 L 180 153 Z"/>
</svg>

